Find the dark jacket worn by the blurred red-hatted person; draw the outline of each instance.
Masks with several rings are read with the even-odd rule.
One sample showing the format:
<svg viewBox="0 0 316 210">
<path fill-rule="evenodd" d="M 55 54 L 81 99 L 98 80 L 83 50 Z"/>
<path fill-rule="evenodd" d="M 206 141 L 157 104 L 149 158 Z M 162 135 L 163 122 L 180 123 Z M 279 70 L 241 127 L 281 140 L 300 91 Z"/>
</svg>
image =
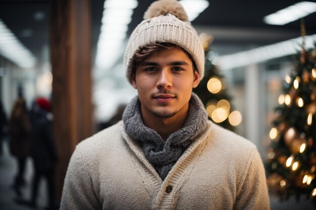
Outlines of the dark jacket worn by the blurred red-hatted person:
<svg viewBox="0 0 316 210">
<path fill-rule="evenodd" d="M 52 115 L 37 106 L 31 112 L 32 132 L 30 139 L 30 155 L 34 161 L 35 170 L 51 170 L 57 154 L 52 136 Z"/>
</svg>

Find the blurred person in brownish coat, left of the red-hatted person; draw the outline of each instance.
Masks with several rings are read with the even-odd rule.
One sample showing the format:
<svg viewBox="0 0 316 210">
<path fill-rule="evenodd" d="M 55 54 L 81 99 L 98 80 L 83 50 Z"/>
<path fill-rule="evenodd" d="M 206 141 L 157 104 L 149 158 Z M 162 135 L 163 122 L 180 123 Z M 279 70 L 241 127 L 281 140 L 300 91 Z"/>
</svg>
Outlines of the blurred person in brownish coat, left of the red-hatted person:
<svg viewBox="0 0 316 210">
<path fill-rule="evenodd" d="M 10 152 L 18 160 L 18 172 L 15 176 L 13 188 L 17 195 L 21 196 L 21 187 L 25 185 L 24 171 L 27 156 L 29 155 L 29 137 L 31 124 L 26 109 L 26 103 L 22 96 L 14 103 L 10 122 Z"/>
</svg>

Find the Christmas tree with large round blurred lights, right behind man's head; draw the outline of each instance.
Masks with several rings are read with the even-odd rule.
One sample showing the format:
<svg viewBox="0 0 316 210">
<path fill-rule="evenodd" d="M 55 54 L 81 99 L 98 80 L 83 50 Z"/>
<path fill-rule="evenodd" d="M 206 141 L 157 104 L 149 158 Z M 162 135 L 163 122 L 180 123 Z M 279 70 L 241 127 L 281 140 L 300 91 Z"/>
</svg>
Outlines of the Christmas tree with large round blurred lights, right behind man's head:
<svg viewBox="0 0 316 210">
<path fill-rule="evenodd" d="M 201 33 L 200 39 L 205 51 L 205 72 L 204 78 L 193 91 L 202 100 L 208 117 L 213 122 L 233 130 L 233 126 L 240 124 L 242 116 L 239 111 L 231 111 L 231 97 L 227 94 L 225 79 L 219 73 L 218 66 L 213 64 L 212 61 L 216 58 L 214 52 L 210 50 L 210 44 L 213 37 Z"/>
</svg>

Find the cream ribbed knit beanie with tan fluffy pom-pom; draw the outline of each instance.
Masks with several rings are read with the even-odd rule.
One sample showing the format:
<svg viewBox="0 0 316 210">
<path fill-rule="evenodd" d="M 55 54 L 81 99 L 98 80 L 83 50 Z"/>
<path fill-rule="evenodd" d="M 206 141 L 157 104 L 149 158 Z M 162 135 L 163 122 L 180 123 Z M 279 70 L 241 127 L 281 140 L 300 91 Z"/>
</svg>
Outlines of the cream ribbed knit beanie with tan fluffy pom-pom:
<svg viewBox="0 0 316 210">
<path fill-rule="evenodd" d="M 153 2 L 144 19 L 131 34 L 124 54 L 127 80 L 132 83 L 132 69 L 128 66 L 136 50 L 153 42 L 169 42 L 185 49 L 192 56 L 201 80 L 204 49 L 182 5 L 177 0 Z"/>
</svg>

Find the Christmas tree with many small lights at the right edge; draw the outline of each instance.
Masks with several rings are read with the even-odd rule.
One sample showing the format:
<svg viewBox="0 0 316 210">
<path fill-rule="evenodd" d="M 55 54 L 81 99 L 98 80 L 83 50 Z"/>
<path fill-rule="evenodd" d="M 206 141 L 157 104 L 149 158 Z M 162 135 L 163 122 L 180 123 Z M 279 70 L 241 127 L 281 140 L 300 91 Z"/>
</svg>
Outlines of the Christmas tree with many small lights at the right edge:
<svg viewBox="0 0 316 210">
<path fill-rule="evenodd" d="M 281 200 L 304 195 L 316 204 L 316 49 L 304 48 L 303 22 L 301 34 L 302 49 L 286 76 L 270 131 L 266 171 L 269 190 Z"/>
</svg>

